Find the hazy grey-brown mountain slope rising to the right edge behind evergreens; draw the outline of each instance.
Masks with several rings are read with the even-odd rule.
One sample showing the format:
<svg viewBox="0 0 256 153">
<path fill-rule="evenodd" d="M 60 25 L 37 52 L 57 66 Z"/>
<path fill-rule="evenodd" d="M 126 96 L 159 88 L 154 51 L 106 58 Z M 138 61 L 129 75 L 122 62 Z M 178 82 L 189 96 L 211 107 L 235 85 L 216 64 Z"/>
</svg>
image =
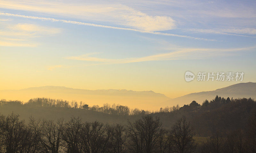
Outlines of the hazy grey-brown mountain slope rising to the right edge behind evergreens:
<svg viewBox="0 0 256 153">
<path fill-rule="evenodd" d="M 233 98 L 254 98 L 256 99 L 256 83 L 247 82 L 247 83 L 238 83 L 225 88 L 216 89 L 214 91 L 204 91 L 198 93 L 191 93 L 185 96 L 180 96 L 167 100 L 163 105 L 177 105 L 183 106 L 184 104 L 189 104 L 193 100 L 197 103 L 203 103 L 205 99 L 212 100 L 216 95 L 221 97 L 233 97 Z"/>
</svg>

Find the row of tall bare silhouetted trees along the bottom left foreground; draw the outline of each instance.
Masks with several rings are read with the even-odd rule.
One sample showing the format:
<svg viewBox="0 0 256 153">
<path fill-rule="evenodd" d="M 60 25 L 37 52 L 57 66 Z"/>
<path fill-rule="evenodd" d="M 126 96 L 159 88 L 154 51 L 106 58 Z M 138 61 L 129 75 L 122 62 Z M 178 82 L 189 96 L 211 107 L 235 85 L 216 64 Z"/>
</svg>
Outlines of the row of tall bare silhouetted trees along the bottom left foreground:
<svg viewBox="0 0 256 153">
<path fill-rule="evenodd" d="M 14 113 L 0 116 L 3 153 L 187 153 L 196 147 L 193 134 L 185 117 L 165 129 L 160 119 L 152 115 L 126 125 L 83 123 L 80 117 L 67 122 L 30 117 L 25 124 Z"/>
</svg>

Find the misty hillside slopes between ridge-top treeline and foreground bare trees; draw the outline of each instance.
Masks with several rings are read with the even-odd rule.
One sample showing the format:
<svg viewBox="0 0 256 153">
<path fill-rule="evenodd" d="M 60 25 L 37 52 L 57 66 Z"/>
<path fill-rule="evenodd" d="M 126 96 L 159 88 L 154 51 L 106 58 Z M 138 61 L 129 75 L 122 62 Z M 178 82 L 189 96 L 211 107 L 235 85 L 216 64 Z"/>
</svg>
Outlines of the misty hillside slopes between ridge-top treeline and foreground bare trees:
<svg viewBox="0 0 256 153">
<path fill-rule="evenodd" d="M 37 101 L 35 100 L 36 104 Z M 157 116 L 161 119 L 163 126 L 168 128 L 183 115 L 195 127 L 195 132 L 199 136 L 210 136 L 214 128 L 218 128 L 225 134 L 226 130 L 244 129 L 247 126 L 247 121 L 250 116 L 256 111 L 256 101 L 251 99 L 233 99 L 229 103 L 212 102 L 208 106 L 200 106 L 196 111 L 192 107 L 189 109 L 180 108 L 176 110 L 158 111 L 148 113 Z M 132 111 L 132 110 L 130 110 Z M 31 104 L 21 104 L 15 101 L 3 102 L 0 101 L 0 114 L 8 116 L 12 112 L 20 115 L 20 119 L 28 122 L 29 117 L 41 119 L 57 120 L 63 118 L 65 121 L 72 116 L 81 117 L 82 121 L 100 121 L 103 123 L 122 123 L 126 124 L 127 120 L 133 121 L 139 119 L 145 113 L 140 112 L 137 115 L 116 115 L 104 113 L 103 111 L 93 111 L 90 109 L 70 108 L 70 107 L 47 107 L 36 106 Z M 214 127 L 212 129 L 212 127 Z"/>
</svg>

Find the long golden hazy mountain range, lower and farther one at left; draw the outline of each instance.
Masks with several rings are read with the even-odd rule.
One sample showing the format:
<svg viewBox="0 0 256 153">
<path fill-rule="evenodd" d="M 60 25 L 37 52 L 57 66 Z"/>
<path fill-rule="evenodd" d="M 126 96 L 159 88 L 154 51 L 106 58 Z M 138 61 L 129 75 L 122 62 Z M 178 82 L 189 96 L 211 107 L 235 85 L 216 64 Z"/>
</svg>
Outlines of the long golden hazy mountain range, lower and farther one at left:
<svg viewBox="0 0 256 153">
<path fill-rule="evenodd" d="M 164 94 L 154 91 L 132 91 L 126 89 L 107 90 L 85 90 L 67 87 L 44 86 L 33 87 L 20 90 L 0 90 L 0 98 L 7 100 L 21 100 L 27 102 L 31 98 L 49 97 L 63 100 L 76 100 L 78 103 L 92 105 L 102 105 L 103 103 L 116 103 L 127 105 L 130 108 L 140 108 L 145 110 L 155 110 L 159 108 L 159 102 L 164 102 L 170 98 Z"/>
</svg>

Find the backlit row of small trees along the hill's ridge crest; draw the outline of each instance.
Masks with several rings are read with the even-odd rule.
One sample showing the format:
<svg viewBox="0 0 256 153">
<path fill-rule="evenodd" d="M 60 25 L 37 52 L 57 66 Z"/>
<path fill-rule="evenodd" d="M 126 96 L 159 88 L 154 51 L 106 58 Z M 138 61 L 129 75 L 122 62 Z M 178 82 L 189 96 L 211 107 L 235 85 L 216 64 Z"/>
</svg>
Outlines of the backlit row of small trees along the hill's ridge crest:
<svg viewBox="0 0 256 153">
<path fill-rule="evenodd" d="M 160 108 L 158 111 L 145 111 L 140 110 L 138 108 L 130 109 L 128 106 L 123 106 L 119 104 L 112 104 L 109 103 L 103 104 L 102 107 L 99 105 L 89 106 L 88 104 L 84 104 L 82 101 L 77 103 L 76 101 L 64 101 L 62 99 L 51 99 L 51 98 L 33 98 L 30 99 L 27 103 L 23 103 L 21 101 L 6 101 L 2 99 L 0 101 L 0 106 L 35 106 L 35 107 L 66 107 L 66 108 L 75 108 L 75 109 L 85 109 L 91 110 L 96 112 L 101 112 L 105 114 L 113 114 L 113 115 L 145 115 L 145 114 L 152 114 L 152 113 L 163 113 L 163 112 L 175 112 L 175 111 L 210 111 L 216 108 L 219 108 L 228 103 L 236 103 L 238 101 L 247 101 L 247 102 L 255 102 L 252 98 L 246 99 L 233 99 L 233 98 L 223 98 L 219 97 L 218 95 L 212 99 L 210 102 L 206 99 L 202 105 L 197 103 L 196 101 L 192 101 L 188 105 L 184 105 L 182 107 L 177 104 L 177 106 Z"/>
</svg>

